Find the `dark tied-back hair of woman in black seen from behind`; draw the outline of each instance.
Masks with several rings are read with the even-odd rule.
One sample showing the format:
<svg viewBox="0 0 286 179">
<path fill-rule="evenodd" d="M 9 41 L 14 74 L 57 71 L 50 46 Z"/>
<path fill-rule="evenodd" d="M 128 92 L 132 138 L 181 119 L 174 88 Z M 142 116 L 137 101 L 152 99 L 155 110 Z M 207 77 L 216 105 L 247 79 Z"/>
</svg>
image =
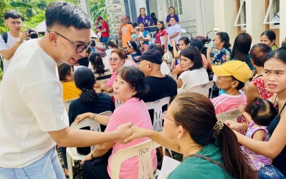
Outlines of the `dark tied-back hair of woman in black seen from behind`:
<svg viewBox="0 0 286 179">
<path fill-rule="evenodd" d="M 80 67 L 76 70 L 74 73 L 74 83 L 82 92 L 81 96 L 79 96 L 79 101 L 82 103 L 92 103 L 99 98 L 93 88 L 95 82 L 94 74 L 88 67 Z"/>
</svg>

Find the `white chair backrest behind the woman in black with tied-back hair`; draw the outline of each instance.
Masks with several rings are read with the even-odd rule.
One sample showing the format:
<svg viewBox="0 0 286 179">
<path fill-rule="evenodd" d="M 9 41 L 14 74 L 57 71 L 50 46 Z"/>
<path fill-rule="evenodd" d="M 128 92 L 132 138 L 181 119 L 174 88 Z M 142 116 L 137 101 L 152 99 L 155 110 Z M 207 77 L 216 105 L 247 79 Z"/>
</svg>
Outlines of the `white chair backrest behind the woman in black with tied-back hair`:
<svg viewBox="0 0 286 179">
<path fill-rule="evenodd" d="M 100 115 L 103 116 L 111 116 L 112 112 L 107 111 L 107 112 L 102 112 Z M 101 125 L 97 123 L 95 120 L 92 120 L 90 118 L 85 118 L 84 120 L 81 121 L 81 123 L 76 124 L 74 121 L 72 125 L 70 125 L 70 129 L 81 129 L 83 127 L 90 127 L 91 131 L 101 131 Z M 72 148 L 72 155 L 77 155 L 77 150 L 76 147 L 71 147 Z M 91 149 L 93 149 L 94 146 L 91 146 Z"/>
</svg>

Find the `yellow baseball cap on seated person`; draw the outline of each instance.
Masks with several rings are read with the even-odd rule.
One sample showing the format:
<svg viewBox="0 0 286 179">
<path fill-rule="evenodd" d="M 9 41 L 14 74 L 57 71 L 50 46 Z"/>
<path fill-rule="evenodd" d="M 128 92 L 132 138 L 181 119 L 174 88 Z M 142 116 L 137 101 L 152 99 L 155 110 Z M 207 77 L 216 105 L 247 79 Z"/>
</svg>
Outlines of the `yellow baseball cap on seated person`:
<svg viewBox="0 0 286 179">
<path fill-rule="evenodd" d="M 252 71 L 243 61 L 229 61 L 223 65 L 212 65 L 212 71 L 217 76 L 234 76 L 243 83 L 252 77 Z"/>
</svg>

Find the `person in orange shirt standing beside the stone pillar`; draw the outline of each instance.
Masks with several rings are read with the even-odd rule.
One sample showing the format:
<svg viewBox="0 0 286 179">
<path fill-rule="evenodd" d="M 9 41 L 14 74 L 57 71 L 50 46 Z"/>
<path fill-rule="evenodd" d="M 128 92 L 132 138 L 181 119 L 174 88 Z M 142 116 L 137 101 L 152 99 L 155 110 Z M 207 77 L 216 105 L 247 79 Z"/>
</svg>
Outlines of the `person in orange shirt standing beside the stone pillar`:
<svg viewBox="0 0 286 179">
<path fill-rule="evenodd" d="M 121 35 L 122 38 L 122 46 L 123 48 L 127 47 L 127 41 L 132 40 L 132 33 L 134 32 L 134 29 L 132 25 L 127 24 L 126 16 L 121 16 L 121 25 L 119 26 L 118 33 Z"/>
</svg>

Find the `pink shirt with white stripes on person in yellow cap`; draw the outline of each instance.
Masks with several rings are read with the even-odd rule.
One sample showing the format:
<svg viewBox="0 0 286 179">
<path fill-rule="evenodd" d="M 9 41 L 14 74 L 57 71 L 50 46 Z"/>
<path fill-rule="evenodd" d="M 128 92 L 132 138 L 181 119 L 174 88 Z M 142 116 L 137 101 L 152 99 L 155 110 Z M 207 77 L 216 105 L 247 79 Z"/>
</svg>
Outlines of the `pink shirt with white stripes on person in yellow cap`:
<svg viewBox="0 0 286 179">
<path fill-rule="evenodd" d="M 235 96 L 229 94 L 221 94 L 216 98 L 212 98 L 210 101 L 212 101 L 212 104 L 214 105 L 216 114 L 236 109 L 238 105 L 246 105 L 247 102 L 245 94 Z"/>
</svg>

